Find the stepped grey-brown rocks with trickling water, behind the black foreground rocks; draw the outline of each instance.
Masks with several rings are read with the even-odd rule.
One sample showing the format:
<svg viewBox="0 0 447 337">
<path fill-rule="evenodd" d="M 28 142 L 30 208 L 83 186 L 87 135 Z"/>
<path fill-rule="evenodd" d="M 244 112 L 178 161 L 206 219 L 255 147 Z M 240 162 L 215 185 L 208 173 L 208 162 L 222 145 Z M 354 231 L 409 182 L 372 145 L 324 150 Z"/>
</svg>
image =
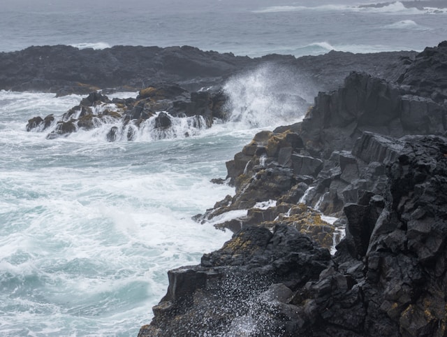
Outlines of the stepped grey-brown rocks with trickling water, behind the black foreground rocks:
<svg viewBox="0 0 447 337">
<path fill-rule="evenodd" d="M 447 62 L 444 49 L 442 44 L 434 48 L 436 56 L 430 59 L 435 62 L 433 69 Z M 427 52 L 421 54 L 414 64 L 407 60 L 404 73 L 418 68 L 420 59 L 428 62 Z M 430 83 L 426 81 L 425 85 L 430 87 Z M 227 197 L 226 202 L 217 203 L 196 219 L 233 231 L 253 224 L 272 228 L 280 218 L 286 219 L 297 203 L 305 203 L 325 215 L 341 217 L 343 223 L 344 206 L 360 205 L 365 192 L 372 193 L 372 200 L 383 196 L 388 179 L 385 166 L 404 146 L 397 138 L 446 132 L 447 106 L 427 97 L 422 89 L 412 90 L 417 95 L 409 94 L 408 86 L 366 73 L 351 73 L 343 87 L 318 94 L 315 106 L 302 122 L 256 134 L 226 163 L 226 178 L 235 185 L 235 196 Z M 275 205 L 267 209 L 256 206 L 268 201 Z M 277 207 L 280 203 L 281 207 Z M 346 210 L 352 210 L 351 217 L 372 217 L 368 221 L 374 223 L 375 215 L 360 215 L 360 209 L 367 208 L 368 203 Z M 247 210 L 247 215 L 219 222 L 218 217 L 234 210 Z M 313 219 L 312 209 L 303 218 Z M 328 247 L 332 234 L 325 228 L 321 227 L 321 233 L 312 234 L 312 238 Z M 367 241 L 360 251 L 365 251 L 365 245 Z"/>
</svg>

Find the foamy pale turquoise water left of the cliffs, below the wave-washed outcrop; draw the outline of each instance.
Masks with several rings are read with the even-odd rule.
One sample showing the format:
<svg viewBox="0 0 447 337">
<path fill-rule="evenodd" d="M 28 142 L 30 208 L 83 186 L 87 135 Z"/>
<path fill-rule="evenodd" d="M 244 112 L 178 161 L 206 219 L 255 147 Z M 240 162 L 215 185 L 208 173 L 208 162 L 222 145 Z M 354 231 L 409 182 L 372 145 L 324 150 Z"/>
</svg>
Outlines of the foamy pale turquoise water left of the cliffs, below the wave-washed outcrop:
<svg viewBox="0 0 447 337">
<path fill-rule="evenodd" d="M 191 216 L 233 192 L 210 178 L 226 174 L 249 131 L 234 143 L 228 132 L 107 143 L 24 130 L 80 99 L 0 92 L 2 336 L 137 334 L 166 271 L 231 236 Z"/>
</svg>

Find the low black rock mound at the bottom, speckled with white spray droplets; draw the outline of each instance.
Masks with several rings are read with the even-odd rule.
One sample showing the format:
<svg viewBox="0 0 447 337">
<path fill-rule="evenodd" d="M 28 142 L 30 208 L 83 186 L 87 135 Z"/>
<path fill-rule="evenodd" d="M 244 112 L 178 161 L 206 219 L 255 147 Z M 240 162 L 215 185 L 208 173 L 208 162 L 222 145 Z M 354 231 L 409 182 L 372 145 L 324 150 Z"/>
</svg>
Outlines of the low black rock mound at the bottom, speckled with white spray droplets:
<svg viewBox="0 0 447 337">
<path fill-rule="evenodd" d="M 331 264 L 328 250 L 291 227 L 244 229 L 200 266 L 170 271 L 168 293 L 138 336 L 290 333 L 293 324 L 277 315 L 292 313 L 283 301 Z"/>
</svg>

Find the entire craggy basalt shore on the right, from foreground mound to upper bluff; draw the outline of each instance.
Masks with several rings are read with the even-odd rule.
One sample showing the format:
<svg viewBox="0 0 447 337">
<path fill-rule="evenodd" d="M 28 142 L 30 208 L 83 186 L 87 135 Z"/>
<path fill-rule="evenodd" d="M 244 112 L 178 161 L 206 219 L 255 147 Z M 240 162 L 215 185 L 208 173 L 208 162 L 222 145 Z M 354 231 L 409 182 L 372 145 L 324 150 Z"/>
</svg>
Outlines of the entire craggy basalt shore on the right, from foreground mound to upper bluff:
<svg viewBox="0 0 447 337">
<path fill-rule="evenodd" d="M 235 235 L 168 273 L 139 336 L 446 336 L 446 51 L 351 73 L 257 134 L 227 163 L 235 196 L 196 216 Z"/>
</svg>

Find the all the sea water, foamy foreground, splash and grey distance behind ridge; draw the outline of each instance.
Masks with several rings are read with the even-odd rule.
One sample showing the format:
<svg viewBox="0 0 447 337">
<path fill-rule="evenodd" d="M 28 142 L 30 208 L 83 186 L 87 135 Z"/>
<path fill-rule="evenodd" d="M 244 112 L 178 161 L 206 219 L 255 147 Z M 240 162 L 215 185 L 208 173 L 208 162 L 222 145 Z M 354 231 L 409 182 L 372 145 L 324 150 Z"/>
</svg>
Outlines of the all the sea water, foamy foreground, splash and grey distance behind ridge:
<svg viewBox="0 0 447 337">
<path fill-rule="evenodd" d="M 445 8 L 315 2 L 3 0 L 0 52 L 193 45 L 299 57 L 420 51 L 447 37 Z M 31 117 L 62 115 L 82 96 L 0 91 L 0 336 L 136 336 L 166 293 L 166 272 L 198 264 L 231 236 L 191 220 L 234 192 L 210 180 L 225 178 L 225 162 L 257 131 L 302 119 L 269 92 L 279 82 L 309 101 L 318 92 L 283 75 L 258 69 L 228 81 L 228 123 L 114 143 L 102 127 L 52 140 L 26 131 Z"/>
</svg>

